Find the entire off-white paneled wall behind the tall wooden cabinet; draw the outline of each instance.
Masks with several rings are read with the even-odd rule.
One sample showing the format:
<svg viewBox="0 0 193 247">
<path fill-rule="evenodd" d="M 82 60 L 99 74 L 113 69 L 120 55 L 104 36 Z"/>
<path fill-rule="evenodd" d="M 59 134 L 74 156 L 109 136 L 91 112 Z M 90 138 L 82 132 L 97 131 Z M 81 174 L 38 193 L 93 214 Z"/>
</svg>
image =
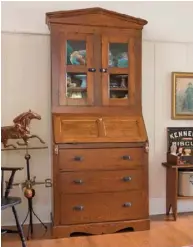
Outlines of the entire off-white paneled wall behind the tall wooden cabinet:
<svg viewBox="0 0 193 247">
<path fill-rule="evenodd" d="M 193 71 L 193 3 L 3 2 L 2 125 L 11 125 L 17 114 L 29 108 L 41 114 L 41 121 L 32 122 L 32 131 L 46 140 L 49 149 L 31 153 L 31 171 L 37 180 L 51 177 L 50 40 L 45 12 L 99 5 L 149 21 L 143 35 L 143 112 L 150 139 L 150 213 L 165 213 L 165 169 L 161 162 L 166 160 L 166 127 L 193 126 L 191 120 L 170 117 L 171 72 Z M 25 166 L 23 154 L 3 152 L 2 165 Z M 16 181 L 23 180 L 24 175 L 25 171 L 19 172 Z M 19 188 L 12 193 L 22 196 Z M 19 206 L 21 220 L 26 215 L 26 206 L 24 199 Z M 41 219 L 48 222 L 51 189 L 36 186 L 34 206 Z M 192 201 L 179 202 L 179 211 L 192 208 Z M 2 224 L 13 224 L 11 212 L 2 213 Z"/>
</svg>

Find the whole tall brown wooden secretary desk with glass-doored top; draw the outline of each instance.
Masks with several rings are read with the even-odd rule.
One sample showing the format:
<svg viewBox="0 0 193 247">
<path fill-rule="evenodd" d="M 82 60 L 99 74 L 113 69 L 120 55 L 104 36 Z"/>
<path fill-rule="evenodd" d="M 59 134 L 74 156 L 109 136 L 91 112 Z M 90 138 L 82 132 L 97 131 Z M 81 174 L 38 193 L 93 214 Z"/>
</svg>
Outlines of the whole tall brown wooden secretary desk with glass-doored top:
<svg viewBox="0 0 193 247">
<path fill-rule="evenodd" d="M 46 13 L 51 33 L 53 236 L 149 229 L 142 115 L 147 21 L 101 8 Z"/>
</svg>

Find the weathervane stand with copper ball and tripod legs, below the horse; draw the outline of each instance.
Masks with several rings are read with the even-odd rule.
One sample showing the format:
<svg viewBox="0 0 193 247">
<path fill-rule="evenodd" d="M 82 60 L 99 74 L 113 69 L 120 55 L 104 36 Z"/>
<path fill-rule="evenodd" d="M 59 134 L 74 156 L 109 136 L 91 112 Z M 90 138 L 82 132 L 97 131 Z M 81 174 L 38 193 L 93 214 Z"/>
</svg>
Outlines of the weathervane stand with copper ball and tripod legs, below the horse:
<svg viewBox="0 0 193 247">
<path fill-rule="evenodd" d="M 38 217 L 38 215 L 34 212 L 32 199 L 36 194 L 36 191 L 34 188 L 35 185 L 44 184 L 46 188 L 49 188 L 49 187 L 52 187 L 52 181 L 51 181 L 51 179 L 45 179 L 45 181 L 43 181 L 43 182 L 36 182 L 35 181 L 36 177 L 33 177 L 33 179 L 31 179 L 30 164 L 29 164 L 29 161 L 31 159 L 31 155 L 29 154 L 29 150 L 39 150 L 39 149 L 47 149 L 47 148 L 48 148 L 47 146 L 44 146 L 44 147 L 28 147 L 28 146 L 26 146 L 25 148 L 23 147 L 23 148 L 17 148 L 17 149 L 15 149 L 15 148 L 2 149 L 2 151 L 25 150 L 25 156 L 24 157 L 25 157 L 25 161 L 26 161 L 27 178 L 24 182 L 13 183 L 12 186 L 20 186 L 23 189 L 24 196 L 28 200 L 28 212 L 27 212 L 26 217 L 22 223 L 22 225 L 23 225 L 29 216 L 27 239 L 29 239 L 30 233 L 31 233 L 31 236 L 33 235 L 33 215 L 38 219 L 38 221 L 43 225 L 43 227 L 47 231 L 47 226 L 41 221 L 41 219 Z"/>
</svg>

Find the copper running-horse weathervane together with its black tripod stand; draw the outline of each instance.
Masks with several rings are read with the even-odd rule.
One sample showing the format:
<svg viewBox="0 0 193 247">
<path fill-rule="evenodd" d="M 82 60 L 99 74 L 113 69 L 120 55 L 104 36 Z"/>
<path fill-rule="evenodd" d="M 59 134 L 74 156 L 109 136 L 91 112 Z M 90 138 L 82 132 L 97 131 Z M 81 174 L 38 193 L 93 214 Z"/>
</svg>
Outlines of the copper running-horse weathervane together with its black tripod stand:
<svg viewBox="0 0 193 247">
<path fill-rule="evenodd" d="M 37 119 L 41 120 L 41 116 L 38 115 L 37 113 L 32 112 L 29 110 L 28 112 L 24 112 L 17 116 L 14 120 L 13 123 L 14 125 L 12 126 L 3 126 L 1 127 L 1 143 L 4 146 L 4 150 L 9 150 L 6 149 L 7 147 L 13 147 L 13 149 L 10 150 L 17 150 L 17 146 L 14 144 L 8 144 L 8 140 L 10 139 L 23 139 L 23 143 L 20 143 L 17 141 L 16 143 L 19 146 L 26 146 L 26 148 L 22 148 L 26 150 L 25 154 L 25 160 L 26 160 L 26 167 L 27 167 L 27 180 L 24 183 L 19 183 L 22 185 L 22 188 L 25 189 L 24 195 L 28 199 L 28 212 L 27 215 L 22 223 L 22 225 L 25 223 L 27 220 L 28 216 L 30 217 L 29 219 L 29 225 L 28 225 L 28 234 L 27 234 L 27 239 L 29 239 L 29 233 L 31 232 L 31 235 L 33 234 L 33 218 L 32 216 L 34 215 L 39 222 L 44 226 L 44 228 L 47 230 L 47 226 L 40 220 L 40 218 L 37 216 L 37 214 L 33 210 L 33 205 L 32 205 L 32 200 L 33 197 L 35 196 L 35 190 L 33 189 L 33 185 L 35 184 L 45 184 L 46 182 L 35 182 L 31 180 L 30 178 L 30 167 L 29 167 L 29 161 L 30 161 L 30 154 L 28 153 L 28 140 L 31 138 L 37 138 L 41 143 L 45 144 L 45 142 L 37 135 L 31 134 L 29 125 L 32 119 Z M 43 147 L 42 147 L 43 148 Z M 21 148 L 18 148 L 21 149 Z M 30 149 L 30 148 L 29 148 Z M 32 148 L 33 149 L 33 148 Z M 37 148 L 39 149 L 39 148 Z M 40 148 L 41 149 L 41 148 Z M 49 180 L 49 179 L 47 179 Z M 19 184 L 13 184 L 13 185 L 19 185 Z M 49 184 L 49 185 L 48 185 Z M 46 187 L 51 187 L 51 181 L 47 181 L 47 186 Z"/>
</svg>

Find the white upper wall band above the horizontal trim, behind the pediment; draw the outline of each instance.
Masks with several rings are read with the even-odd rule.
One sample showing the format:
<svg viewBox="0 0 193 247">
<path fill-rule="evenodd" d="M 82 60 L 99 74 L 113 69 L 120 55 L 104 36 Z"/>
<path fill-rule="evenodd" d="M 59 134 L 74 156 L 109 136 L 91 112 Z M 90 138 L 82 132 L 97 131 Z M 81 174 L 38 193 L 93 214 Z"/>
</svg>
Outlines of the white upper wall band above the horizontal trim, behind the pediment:
<svg viewBox="0 0 193 247">
<path fill-rule="evenodd" d="M 149 24 L 144 30 L 144 39 L 193 42 L 193 3 L 188 1 L 2 2 L 2 30 L 47 34 L 46 12 L 91 7 L 147 19 Z"/>
</svg>

